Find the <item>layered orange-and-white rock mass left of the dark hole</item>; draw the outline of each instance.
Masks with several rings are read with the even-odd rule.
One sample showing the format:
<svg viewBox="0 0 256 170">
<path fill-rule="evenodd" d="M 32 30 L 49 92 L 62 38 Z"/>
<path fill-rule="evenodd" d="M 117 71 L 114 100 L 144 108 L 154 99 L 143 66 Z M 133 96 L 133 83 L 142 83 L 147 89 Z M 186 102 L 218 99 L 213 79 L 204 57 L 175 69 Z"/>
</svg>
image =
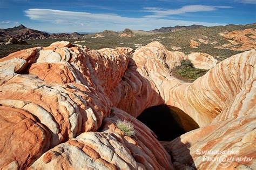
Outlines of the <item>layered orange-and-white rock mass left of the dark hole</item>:
<svg viewBox="0 0 256 170">
<path fill-rule="evenodd" d="M 136 121 L 140 137 L 111 130 L 117 117 L 102 124 L 131 53 L 57 42 L 2 58 L 0 167 L 171 169 L 170 155 L 153 132 L 131 115 L 114 108 Z"/>
</svg>

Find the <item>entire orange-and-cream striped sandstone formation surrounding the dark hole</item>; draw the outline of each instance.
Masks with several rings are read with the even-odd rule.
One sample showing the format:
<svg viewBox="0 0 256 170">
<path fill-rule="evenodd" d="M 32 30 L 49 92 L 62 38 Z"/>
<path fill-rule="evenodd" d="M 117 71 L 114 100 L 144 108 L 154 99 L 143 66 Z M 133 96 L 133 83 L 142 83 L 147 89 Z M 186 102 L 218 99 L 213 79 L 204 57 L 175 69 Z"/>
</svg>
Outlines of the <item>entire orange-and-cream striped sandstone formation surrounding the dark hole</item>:
<svg viewBox="0 0 256 170">
<path fill-rule="evenodd" d="M 236 157 L 253 160 L 227 167 L 253 169 L 255 57 L 255 50 L 240 53 L 183 83 L 170 70 L 187 56 L 158 42 L 134 52 L 56 42 L 12 53 L 0 59 L 0 167 L 216 169 L 222 162 L 204 161 L 197 149 L 237 149 Z M 165 142 L 165 150 L 136 119 L 160 104 L 200 128 Z M 136 134 L 127 137 L 117 119 L 131 121 Z"/>
</svg>

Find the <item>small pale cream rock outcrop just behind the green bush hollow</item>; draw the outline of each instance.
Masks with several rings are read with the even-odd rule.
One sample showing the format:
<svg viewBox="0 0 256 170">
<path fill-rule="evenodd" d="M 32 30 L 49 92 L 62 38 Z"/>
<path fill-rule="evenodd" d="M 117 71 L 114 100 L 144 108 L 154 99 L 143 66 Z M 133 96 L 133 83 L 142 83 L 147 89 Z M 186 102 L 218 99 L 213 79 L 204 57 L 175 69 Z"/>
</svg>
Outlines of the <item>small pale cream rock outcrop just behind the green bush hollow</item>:
<svg viewBox="0 0 256 170">
<path fill-rule="evenodd" d="M 187 55 L 187 58 L 191 60 L 191 63 L 197 69 L 212 69 L 218 62 L 217 59 L 208 55 L 207 53 L 193 52 L 190 55 Z"/>
</svg>

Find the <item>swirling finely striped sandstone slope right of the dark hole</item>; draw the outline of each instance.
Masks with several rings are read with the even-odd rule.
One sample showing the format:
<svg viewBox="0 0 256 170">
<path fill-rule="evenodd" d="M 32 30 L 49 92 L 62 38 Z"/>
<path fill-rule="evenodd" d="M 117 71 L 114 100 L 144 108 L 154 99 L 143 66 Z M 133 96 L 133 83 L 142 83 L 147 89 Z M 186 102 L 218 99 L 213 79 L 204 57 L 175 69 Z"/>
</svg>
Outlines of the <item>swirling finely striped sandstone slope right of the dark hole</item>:
<svg viewBox="0 0 256 170">
<path fill-rule="evenodd" d="M 194 83 L 170 91 L 174 98 L 167 103 L 183 108 L 201 126 L 165 144 L 176 168 L 193 162 L 198 169 L 255 169 L 255 57 L 255 50 L 232 56 Z"/>
</svg>

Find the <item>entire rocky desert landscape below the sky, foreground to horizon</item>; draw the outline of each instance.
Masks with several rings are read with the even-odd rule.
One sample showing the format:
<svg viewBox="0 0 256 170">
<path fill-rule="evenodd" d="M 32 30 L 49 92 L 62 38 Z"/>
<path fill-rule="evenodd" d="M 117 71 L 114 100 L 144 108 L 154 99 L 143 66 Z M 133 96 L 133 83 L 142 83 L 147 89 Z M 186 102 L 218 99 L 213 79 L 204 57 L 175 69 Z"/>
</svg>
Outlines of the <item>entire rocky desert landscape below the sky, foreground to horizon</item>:
<svg viewBox="0 0 256 170">
<path fill-rule="evenodd" d="M 0 29 L 0 169 L 256 169 L 255 49 L 255 23 Z"/>
</svg>

